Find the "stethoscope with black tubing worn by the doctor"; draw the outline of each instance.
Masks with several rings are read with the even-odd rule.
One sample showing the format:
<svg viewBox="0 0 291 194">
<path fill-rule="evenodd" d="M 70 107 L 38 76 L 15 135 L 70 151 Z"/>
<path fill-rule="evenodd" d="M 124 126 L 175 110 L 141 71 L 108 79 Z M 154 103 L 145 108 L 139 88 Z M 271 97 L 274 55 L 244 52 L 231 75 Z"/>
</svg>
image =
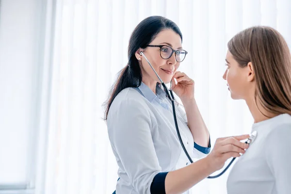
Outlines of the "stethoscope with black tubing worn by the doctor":
<svg viewBox="0 0 291 194">
<path fill-rule="evenodd" d="M 181 144 L 181 146 L 182 146 L 187 158 L 189 159 L 189 161 L 191 163 L 193 163 L 193 160 L 191 159 L 190 155 L 188 154 L 188 152 L 187 152 L 187 150 L 186 150 L 186 148 L 184 146 L 184 143 L 183 143 L 183 141 L 181 139 L 180 131 L 179 131 L 179 128 L 178 128 L 178 122 L 177 122 L 177 116 L 176 116 L 176 110 L 175 110 L 175 97 L 174 97 L 174 94 L 173 94 L 173 91 L 172 91 L 172 81 L 170 82 L 170 89 L 168 89 L 167 86 L 165 85 L 165 83 L 160 78 L 160 76 L 157 74 L 157 72 L 154 69 L 154 67 L 150 64 L 150 62 L 146 58 L 146 55 L 142 51 L 140 52 L 140 55 L 143 55 L 145 57 L 147 63 L 150 65 L 150 67 L 153 69 L 153 71 L 155 72 L 155 74 L 158 77 L 158 79 L 161 81 L 162 87 L 164 88 L 164 91 L 165 91 L 167 97 L 169 97 L 169 99 L 172 102 L 172 109 L 173 109 L 173 115 L 174 115 L 175 126 L 176 126 L 176 130 L 177 130 L 177 134 L 178 134 L 178 139 L 180 141 L 180 144 Z M 252 132 L 252 134 L 250 134 L 250 137 L 244 143 L 248 144 L 248 145 L 251 144 L 251 142 L 253 142 L 255 140 L 256 136 L 257 136 L 257 131 Z M 218 175 L 215 175 L 215 176 L 209 176 L 208 178 L 218 178 L 221 175 L 223 175 L 226 172 L 226 170 L 230 167 L 230 165 L 234 162 L 235 159 L 236 158 L 233 158 L 221 173 L 219 173 Z"/>
</svg>

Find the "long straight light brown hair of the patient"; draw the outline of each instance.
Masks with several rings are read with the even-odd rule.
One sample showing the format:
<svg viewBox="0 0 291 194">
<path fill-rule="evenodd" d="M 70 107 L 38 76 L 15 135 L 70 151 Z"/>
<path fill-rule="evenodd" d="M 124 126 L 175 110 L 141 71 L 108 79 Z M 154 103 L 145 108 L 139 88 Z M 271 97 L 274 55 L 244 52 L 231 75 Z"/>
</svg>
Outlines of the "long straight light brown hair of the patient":
<svg viewBox="0 0 291 194">
<path fill-rule="evenodd" d="M 291 55 L 283 36 L 271 27 L 255 26 L 236 34 L 227 47 L 241 67 L 252 62 L 255 99 L 263 108 L 291 114 Z"/>
</svg>

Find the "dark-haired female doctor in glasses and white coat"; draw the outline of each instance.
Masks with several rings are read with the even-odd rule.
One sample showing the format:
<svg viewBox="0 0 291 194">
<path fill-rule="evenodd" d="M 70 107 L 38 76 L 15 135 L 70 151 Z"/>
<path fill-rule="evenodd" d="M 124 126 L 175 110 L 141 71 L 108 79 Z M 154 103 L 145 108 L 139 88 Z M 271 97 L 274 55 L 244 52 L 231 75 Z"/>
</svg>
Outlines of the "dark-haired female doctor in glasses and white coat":
<svg viewBox="0 0 291 194">
<path fill-rule="evenodd" d="M 172 106 L 143 52 L 183 106 L 176 104 L 180 146 Z M 194 81 L 177 71 L 187 51 L 178 26 L 162 16 L 150 16 L 129 40 L 128 65 L 122 69 L 107 101 L 105 119 L 116 157 L 116 194 L 189 194 L 189 189 L 221 169 L 230 157 L 240 157 L 248 135 L 219 138 L 210 152 L 210 134 L 194 98 Z M 174 79 L 177 80 L 175 84 Z M 207 155 L 209 154 L 209 155 Z M 205 157 L 206 156 L 206 157 Z"/>
</svg>

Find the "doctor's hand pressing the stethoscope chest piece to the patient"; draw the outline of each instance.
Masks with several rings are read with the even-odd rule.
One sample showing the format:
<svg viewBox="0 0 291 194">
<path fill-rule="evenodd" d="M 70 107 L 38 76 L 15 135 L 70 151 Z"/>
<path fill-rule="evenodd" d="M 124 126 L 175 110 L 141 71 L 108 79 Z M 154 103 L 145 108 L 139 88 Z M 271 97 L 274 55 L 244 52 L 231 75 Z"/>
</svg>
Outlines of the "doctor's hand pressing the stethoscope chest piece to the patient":
<svg viewBox="0 0 291 194">
<path fill-rule="evenodd" d="M 249 145 L 240 142 L 240 140 L 247 139 L 248 137 L 249 135 L 240 135 L 218 138 L 212 151 L 206 157 L 213 172 L 220 170 L 225 165 L 227 159 L 240 157 L 240 153 L 244 154 L 244 149 L 247 149 Z"/>
</svg>

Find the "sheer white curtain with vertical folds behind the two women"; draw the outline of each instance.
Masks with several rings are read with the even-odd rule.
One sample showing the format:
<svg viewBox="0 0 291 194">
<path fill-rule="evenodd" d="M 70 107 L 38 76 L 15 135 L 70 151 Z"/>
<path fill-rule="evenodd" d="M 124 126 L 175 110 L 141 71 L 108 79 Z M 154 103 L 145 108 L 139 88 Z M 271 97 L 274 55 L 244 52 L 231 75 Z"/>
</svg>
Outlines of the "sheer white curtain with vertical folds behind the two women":
<svg viewBox="0 0 291 194">
<path fill-rule="evenodd" d="M 268 25 L 291 45 L 290 0 L 48 0 L 48 9 L 46 132 L 36 185 L 44 194 L 115 190 L 118 167 L 101 105 L 127 64 L 130 33 L 147 16 L 166 16 L 180 27 L 189 52 L 180 70 L 195 81 L 212 145 L 218 137 L 249 133 L 253 123 L 245 103 L 230 98 L 222 79 L 227 41 L 247 27 Z M 194 193 L 226 194 L 227 174 L 201 181 Z"/>
</svg>

